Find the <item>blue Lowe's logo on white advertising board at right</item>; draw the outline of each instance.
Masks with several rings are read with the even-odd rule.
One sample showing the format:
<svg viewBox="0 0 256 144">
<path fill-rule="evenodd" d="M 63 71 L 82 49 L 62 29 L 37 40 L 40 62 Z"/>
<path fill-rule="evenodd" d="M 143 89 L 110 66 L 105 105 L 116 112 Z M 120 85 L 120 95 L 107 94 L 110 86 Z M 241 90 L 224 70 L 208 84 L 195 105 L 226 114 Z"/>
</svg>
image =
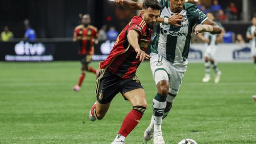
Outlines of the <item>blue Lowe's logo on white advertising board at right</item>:
<svg viewBox="0 0 256 144">
<path fill-rule="evenodd" d="M 233 59 L 235 60 L 250 60 L 251 49 L 249 47 L 243 47 L 241 50 L 233 51 Z"/>
</svg>

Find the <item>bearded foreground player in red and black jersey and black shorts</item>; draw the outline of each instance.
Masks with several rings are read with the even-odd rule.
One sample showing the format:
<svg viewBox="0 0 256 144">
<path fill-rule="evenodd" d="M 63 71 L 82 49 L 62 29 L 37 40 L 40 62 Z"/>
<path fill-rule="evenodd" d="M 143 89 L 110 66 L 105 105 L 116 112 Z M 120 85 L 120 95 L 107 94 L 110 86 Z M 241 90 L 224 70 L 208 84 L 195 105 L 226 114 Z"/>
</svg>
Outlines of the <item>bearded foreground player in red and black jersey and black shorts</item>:
<svg viewBox="0 0 256 144">
<path fill-rule="evenodd" d="M 144 59 L 150 58 L 145 50 L 150 44 L 160 9 L 157 0 L 145 0 L 140 15 L 133 17 L 126 25 L 109 57 L 100 62 L 101 70 L 96 82 L 97 102 L 90 110 L 90 120 L 102 119 L 118 92 L 133 106 L 112 143 L 124 143 L 125 137 L 137 126 L 146 109 L 145 92 L 136 76 L 136 69 Z"/>
</svg>

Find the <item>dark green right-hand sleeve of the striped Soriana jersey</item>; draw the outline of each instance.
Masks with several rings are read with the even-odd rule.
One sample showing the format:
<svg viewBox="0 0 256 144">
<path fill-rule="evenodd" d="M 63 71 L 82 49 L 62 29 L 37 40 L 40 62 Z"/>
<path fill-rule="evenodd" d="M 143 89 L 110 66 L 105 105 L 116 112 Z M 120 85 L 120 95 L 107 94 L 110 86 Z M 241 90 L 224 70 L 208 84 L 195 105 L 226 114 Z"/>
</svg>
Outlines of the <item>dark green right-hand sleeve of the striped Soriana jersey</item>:
<svg viewBox="0 0 256 144">
<path fill-rule="evenodd" d="M 204 14 L 201 10 L 197 8 L 197 6 L 193 6 L 187 10 L 192 17 L 192 20 L 195 24 L 202 24 L 205 20 L 208 19 L 206 14 Z"/>
</svg>

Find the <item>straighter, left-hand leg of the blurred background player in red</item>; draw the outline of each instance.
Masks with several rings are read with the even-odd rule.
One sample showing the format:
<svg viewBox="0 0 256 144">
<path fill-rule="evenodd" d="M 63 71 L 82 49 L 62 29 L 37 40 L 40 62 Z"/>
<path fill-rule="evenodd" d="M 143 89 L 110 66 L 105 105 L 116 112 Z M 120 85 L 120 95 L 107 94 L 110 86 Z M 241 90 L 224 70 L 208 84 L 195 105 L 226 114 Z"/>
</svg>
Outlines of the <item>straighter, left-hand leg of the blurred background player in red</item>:
<svg viewBox="0 0 256 144">
<path fill-rule="evenodd" d="M 74 86 L 74 91 L 78 92 L 82 85 L 83 79 L 86 77 L 86 70 L 88 69 L 88 64 L 86 62 L 86 55 L 80 55 L 80 62 L 81 62 L 81 74 L 78 79 L 77 85 Z"/>
</svg>

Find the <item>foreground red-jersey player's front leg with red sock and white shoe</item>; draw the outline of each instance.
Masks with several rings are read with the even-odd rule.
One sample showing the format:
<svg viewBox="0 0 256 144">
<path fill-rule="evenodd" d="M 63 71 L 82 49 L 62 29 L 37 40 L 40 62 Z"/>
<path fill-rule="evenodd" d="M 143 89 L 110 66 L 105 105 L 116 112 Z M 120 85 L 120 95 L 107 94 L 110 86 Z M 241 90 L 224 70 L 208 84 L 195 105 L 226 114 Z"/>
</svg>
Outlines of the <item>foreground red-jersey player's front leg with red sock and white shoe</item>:
<svg viewBox="0 0 256 144">
<path fill-rule="evenodd" d="M 124 97 L 129 100 L 133 109 L 125 116 L 121 128 L 113 143 L 124 142 L 124 139 L 138 125 L 147 107 L 144 89 L 138 88 L 124 93 Z"/>
</svg>

